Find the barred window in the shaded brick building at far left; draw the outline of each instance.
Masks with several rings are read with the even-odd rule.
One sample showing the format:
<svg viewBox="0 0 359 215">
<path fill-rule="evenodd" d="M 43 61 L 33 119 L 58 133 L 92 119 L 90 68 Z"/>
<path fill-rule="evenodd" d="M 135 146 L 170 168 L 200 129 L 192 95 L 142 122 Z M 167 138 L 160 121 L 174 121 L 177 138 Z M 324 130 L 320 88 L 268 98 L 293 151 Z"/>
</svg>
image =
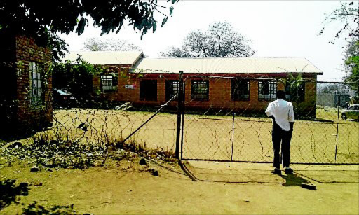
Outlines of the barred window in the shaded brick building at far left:
<svg viewBox="0 0 359 215">
<path fill-rule="evenodd" d="M 30 62 L 30 103 L 43 103 L 43 77 L 41 76 L 42 65 Z"/>
</svg>

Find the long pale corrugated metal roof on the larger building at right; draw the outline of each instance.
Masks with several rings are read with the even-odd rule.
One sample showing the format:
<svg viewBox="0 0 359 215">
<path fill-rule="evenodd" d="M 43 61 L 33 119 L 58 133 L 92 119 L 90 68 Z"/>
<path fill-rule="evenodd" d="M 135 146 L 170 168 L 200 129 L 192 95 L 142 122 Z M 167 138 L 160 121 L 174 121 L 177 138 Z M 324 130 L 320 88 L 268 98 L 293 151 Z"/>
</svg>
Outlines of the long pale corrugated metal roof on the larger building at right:
<svg viewBox="0 0 359 215">
<path fill-rule="evenodd" d="M 134 67 L 144 69 L 144 73 L 323 74 L 305 57 L 143 58 Z"/>
</svg>

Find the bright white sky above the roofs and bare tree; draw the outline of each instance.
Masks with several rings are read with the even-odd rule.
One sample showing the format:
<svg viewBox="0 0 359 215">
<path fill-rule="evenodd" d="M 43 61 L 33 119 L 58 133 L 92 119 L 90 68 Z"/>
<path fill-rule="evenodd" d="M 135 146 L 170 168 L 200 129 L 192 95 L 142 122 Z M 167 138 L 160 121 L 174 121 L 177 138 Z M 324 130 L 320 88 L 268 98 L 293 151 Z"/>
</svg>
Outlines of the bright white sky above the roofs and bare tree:
<svg viewBox="0 0 359 215">
<path fill-rule="evenodd" d="M 159 1 L 161 3 L 161 1 Z M 156 32 L 141 34 L 133 27 L 123 26 L 118 34 L 104 39 L 125 39 L 142 48 L 147 57 L 160 57 L 170 46 L 180 47 L 193 30 L 205 31 L 214 22 L 230 22 L 237 32 L 252 41 L 254 57 L 306 57 L 323 71 L 319 81 L 341 81 L 344 36 L 329 43 L 342 23 L 325 24 L 325 13 L 340 7 L 339 1 L 202 1 L 183 0 L 175 5 L 172 17 Z M 319 36 L 320 29 L 325 32 Z M 78 36 L 62 34 L 69 50 L 81 50 L 90 37 L 100 37 L 100 29 L 91 24 Z"/>
</svg>

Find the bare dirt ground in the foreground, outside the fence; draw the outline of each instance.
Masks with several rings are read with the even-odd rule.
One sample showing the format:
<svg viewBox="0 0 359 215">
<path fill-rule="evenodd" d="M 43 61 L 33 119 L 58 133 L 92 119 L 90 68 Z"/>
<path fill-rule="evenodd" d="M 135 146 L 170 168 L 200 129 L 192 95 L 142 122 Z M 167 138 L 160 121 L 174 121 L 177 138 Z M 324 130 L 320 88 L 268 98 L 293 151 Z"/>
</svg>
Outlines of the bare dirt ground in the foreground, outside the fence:
<svg viewBox="0 0 359 215">
<path fill-rule="evenodd" d="M 358 165 L 293 165 L 294 175 L 278 176 L 271 174 L 271 164 L 191 161 L 181 168 L 139 160 L 39 172 L 30 172 L 26 162 L 0 165 L 1 193 L 4 181 L 16 180 L 8 192 L 15 196 L 1 194 L 0 213 L 22 213 L 34 201 L 48 211 L 74 204 L 79 214 L 359 213 Z M 306 181 L 317 190 L 302 188 Z"/>
</svg>

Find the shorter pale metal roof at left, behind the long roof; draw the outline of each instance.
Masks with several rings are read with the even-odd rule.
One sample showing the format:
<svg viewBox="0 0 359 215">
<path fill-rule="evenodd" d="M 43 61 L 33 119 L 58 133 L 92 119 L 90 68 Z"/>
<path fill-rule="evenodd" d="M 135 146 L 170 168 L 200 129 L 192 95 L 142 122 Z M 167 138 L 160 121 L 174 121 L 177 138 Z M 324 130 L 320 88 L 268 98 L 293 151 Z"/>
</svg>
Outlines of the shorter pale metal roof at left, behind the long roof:
<svg viewBox="0 0 359 215">
<path fill-rule="evenodd" d="M 143 56 L 140 51 L 78 51 L 66 55 L 63 60 L 76 60 L 81 55 L 83 60 L 95 65 L 133 65 Z"/>
</svg>

